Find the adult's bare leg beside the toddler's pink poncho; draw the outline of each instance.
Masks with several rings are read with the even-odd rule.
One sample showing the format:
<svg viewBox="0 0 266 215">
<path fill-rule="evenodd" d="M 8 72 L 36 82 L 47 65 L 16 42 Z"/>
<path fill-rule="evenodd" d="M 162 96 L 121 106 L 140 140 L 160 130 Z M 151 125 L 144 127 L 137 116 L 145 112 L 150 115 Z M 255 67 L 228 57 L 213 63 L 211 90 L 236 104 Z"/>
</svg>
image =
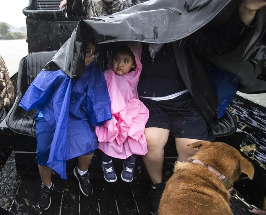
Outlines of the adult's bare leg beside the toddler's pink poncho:
<svg viewBox="0 0 266 215">
<path fill-rule="evenodd" d="M 147 139 L 148 152 L 143 156 L 143 161 L 151 181 L 159 184 L 163 180 L 163 148 L 167 143 L 169 130 L 146 128 L 144 134 Z"/>
</svg>

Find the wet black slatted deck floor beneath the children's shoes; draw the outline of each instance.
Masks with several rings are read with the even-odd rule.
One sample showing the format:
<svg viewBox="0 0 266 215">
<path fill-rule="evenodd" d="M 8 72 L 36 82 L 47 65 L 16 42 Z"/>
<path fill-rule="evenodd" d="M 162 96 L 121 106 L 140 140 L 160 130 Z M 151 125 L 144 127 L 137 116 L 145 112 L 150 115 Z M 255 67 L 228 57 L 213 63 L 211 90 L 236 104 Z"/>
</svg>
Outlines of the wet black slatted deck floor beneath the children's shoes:
<svg viewBox="0 0 266 215">
<path fill-rule="evenodd" d="M 148 193 L 145 183 L 135 180 L 132 184 L 117 181 L 109 184 L 104 179 L 92 179 L 92 196 L 83 195 L 76 180 L 55 179 L 48 210 L 37 208 L 40 178 L 27 176 L 21 183 L 16 199 L 11 206 L 14 214 L 43 215 L 98 215 L 98 214 L 149 214 Z"/>
</svg>

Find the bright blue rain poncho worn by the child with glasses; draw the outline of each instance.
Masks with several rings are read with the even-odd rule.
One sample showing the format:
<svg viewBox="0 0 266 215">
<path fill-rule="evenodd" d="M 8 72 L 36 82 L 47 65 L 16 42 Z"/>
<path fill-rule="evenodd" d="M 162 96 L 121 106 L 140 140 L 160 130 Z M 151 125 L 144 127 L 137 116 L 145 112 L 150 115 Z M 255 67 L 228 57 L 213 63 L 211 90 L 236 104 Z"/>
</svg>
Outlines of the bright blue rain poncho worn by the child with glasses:
<svg viewBox="0 0 266 215">
<path fill-rule="evenodd" d="M 103 71 L 94 61 L 82 76 L 71 79 L 62 70 L 42 70 L 23 96 L 20 106 L 41 111 L 55 128 L 47 166 L 66 179 L 66 161 L 97 149 L 92 126 L 112 119 Z"/>
</svg>

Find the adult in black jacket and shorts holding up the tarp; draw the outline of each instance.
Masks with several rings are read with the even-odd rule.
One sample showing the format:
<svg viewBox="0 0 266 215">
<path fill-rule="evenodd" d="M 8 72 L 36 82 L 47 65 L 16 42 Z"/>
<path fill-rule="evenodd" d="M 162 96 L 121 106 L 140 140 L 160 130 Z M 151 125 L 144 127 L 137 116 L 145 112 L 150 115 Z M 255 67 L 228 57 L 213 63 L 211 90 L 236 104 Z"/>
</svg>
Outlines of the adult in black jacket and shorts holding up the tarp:
<svg viewBox="0 0 266 215">
<path fill-rule="evenodd" d="M 188 144 L 215 138 L 211 130 L 217 120 L 217 98 L 203 59 L 233 51 L 253 29 L 257 10 L 265 5 L 266 0 L 243 0 L 223 26 L 170 44 L 143 44 L 138 94 L 150 110 L 145 129 L 148 153 L 143 160 L 152 181 L 152 214 L 158 213 L 164 188 L 163 148 L 169 134 L 176 138 L 179 161 L 196 152 Z"/>
</svg>

